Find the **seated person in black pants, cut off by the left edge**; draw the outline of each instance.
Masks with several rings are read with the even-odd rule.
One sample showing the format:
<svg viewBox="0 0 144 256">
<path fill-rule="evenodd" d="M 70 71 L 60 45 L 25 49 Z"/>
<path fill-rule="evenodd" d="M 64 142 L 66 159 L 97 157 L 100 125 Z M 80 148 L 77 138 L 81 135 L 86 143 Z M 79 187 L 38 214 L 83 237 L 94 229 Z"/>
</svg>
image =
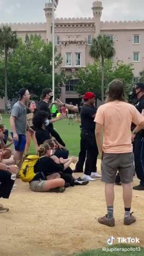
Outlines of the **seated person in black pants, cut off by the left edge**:
<svg viewBox="0 0 144 256">
<path fill-rule="evenodd" d="M 9 198 L 10 192 L 14 185 L 13 179 L 11 179 L 12 174 L 17 174 L 18 167 L 16 165 L 5 165 L 1 163 L 4 151 L 0 149 L 0 198 Z M 0 212 L 7 212 L 9 208 L 4 208 L 0 203 Z"/>
</svg>

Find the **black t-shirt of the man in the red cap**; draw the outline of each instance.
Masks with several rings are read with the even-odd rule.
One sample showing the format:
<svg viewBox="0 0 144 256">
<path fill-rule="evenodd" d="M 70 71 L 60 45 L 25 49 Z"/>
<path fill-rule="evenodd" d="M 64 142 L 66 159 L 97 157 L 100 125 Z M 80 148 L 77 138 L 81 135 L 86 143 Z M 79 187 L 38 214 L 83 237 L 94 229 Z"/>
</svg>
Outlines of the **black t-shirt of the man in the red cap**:
<svg viewBox="0 0 144 256">
<path fill-rule="evenodd" d="M 95 122 L 94 117 L 96 113 L 95 107 L 90 107 L 87 104 L 82 105 L 81 107 L 81 128 L 82 131 L 94 133 L 95 132 Z"/>
</svg>

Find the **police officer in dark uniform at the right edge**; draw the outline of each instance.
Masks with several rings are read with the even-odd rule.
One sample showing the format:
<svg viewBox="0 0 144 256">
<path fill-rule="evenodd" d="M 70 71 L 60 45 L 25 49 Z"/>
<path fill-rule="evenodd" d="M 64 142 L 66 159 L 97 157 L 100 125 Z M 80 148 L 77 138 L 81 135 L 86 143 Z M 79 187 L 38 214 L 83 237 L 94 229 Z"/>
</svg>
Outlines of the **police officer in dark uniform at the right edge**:
<svg viewBox="0 0 144 256">
<path fill-rule="evenodd" d="M 138 99 L 135 107 L 141 113 L 144 109 L 144 84 L 137 83 L 134 86 L 134 95 Z M 135 170 L 140 184 L 133 187 L 135 190 L 144 190 L 144 130 L 140 130 L 139 127 L 135 127 L 132 130 L 132 136 L 134 139 L 133 152 L 135 159 Z"/>
</svg>

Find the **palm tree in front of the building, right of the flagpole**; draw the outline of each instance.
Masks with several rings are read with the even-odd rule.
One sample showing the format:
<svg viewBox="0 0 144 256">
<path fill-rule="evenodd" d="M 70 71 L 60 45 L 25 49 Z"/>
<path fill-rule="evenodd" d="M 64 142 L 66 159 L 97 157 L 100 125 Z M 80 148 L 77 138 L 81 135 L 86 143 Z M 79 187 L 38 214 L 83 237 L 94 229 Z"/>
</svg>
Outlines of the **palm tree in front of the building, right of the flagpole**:
<svg viewBox="0 0 144 256">
<path fill-rule="evenodd" d="M 89 54 L 92 58 L 102 60 L 102 103 L 104 102 L 104 60 L 110 59 L 115 54 L 114 42 L 107 35 L 99 35 L 94 38 Z"/>
</svg>

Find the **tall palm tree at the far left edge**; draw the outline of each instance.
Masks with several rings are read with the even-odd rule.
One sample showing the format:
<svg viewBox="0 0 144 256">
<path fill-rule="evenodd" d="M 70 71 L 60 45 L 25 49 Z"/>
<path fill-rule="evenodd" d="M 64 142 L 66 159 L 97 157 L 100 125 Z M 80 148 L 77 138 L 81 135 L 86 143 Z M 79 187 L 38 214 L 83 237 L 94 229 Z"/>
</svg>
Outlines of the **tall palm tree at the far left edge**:
<svg viewBox="0 0 144 256">
<path fill-rule="evenodd" d="M 0 28 L 0 48 L 4 51 L 5 57 L 5 110 L 7 111 L 8 100 L 8 54 L 18 46 L 17 32 L 12 31 L 11 27 L 3 26 Z"/>
</svg>

